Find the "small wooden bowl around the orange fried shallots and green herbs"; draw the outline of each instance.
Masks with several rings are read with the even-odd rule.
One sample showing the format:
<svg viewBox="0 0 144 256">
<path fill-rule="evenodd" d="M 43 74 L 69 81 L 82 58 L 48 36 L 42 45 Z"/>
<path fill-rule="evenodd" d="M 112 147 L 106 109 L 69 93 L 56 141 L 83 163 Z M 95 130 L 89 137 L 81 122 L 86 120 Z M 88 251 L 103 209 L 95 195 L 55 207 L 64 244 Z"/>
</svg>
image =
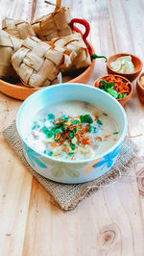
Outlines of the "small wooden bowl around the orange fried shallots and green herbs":
<svg viewBox="0 0 144 256">
<path fill-rule="evenodd" d="M 95 80 L 94 87 L 99 88 L 100 80 L 105 80 L 108 76 L 110 76 L 110 75 L 105 75 L 105 76 L 99 77 L 97 80 Z M 133 90 L 132 89 L 132 83 L 127 78 L 125 78 L 123 76 L 114 75 L 114 77 L 119 77 L 119 78 L 123 79 L 124 82 L 129 83 L 130 93 L 126 97 L 124 97 L 124 98 L 117 99 L 117 101 L 124 107 L 126 105 L 126 103 L 130 100 L 131 96 L 132 96 L 132 90 Z"/>
</svg>

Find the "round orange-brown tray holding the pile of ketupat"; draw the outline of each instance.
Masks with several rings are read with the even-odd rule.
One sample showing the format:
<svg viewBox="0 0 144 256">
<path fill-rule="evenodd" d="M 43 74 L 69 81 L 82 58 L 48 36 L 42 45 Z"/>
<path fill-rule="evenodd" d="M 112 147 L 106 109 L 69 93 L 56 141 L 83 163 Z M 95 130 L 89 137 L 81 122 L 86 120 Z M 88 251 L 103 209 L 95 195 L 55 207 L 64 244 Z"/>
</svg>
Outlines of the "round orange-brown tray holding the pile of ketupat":
<svg viewBox="0 0 144 256">
<path fill-rule="evenodd" d="M 92 49 L 92 54 L 94 50 Z M 62 78 L 63 83 L 81 83 L 85 84 L 90 78 L 93 68 L 94 68 L 95 60 L 92 60 L 92 63 L 83 71 L 73 71 L 68 76 L 64 76 Z M 40 90 L 42 88 L 29 88 L 22 84 L 22 82 L 14 83 L 13 81 L 4 81 L 0 79 L 0 91 L 5 93 L 6 95 L 15 98 L 24 100 L 36 90 Z"/>
</svg>

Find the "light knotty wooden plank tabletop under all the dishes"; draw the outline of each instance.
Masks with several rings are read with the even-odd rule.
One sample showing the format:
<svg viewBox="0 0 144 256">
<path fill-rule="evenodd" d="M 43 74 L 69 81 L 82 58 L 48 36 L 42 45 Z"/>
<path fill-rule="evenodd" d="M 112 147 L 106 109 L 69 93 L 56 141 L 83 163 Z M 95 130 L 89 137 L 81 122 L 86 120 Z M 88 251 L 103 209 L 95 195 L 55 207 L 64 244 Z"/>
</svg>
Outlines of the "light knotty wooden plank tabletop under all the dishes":
<svg viewBox="0 0 144 256">
<path fill-rule="evenodd" d="M 32 18 L 54 8 L 43 0 L 1 0 L 6 15 Z M 144 60 L 143 0 L 73 0 L 73 17 L 84 17 L 91 26 L 90 40 L 97 54 L 128 52 Z M 88 84 L 106 73 L 97 60 Z M 129 136 L 137 144 L 141 161 L 132 166 L 144 173 L 144 107 L 134 91 L 126 106 Z M 21 102 L 0 93 L 0 131 L 15 118 Z M 144 183 L 122 178 L 93 193 L 77 209 L 62 212 L 53 198 L 17 159 L 0 134 L 0 255 L 1 256 L 143 256 Z"/>
</svg>

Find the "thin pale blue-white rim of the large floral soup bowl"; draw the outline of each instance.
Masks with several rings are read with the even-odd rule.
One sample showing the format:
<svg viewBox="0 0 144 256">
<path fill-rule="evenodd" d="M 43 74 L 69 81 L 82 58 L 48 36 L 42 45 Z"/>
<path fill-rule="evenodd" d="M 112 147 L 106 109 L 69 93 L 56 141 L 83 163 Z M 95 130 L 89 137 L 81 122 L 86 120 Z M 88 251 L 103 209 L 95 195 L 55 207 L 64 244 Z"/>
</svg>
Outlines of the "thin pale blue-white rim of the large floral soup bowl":
<svg viewBox="0 0 144 256">
<path fill-rule="evenodd" d="M 31 94 L 27 99 L 24 100 L 24 102 L 22 103 L 22 105 L 20 106 L 19 110 L 18 110 L 18 113 L 17 113 L 17 116 L 16 116 L 16 129 L 17 129 L 17 132 L 21 138 L 22 141 L 24 141 L 31 149 L 33 149 L 37 154 L 39 154 L 40 156 L 43 156 L 51 161 L 56 161 L 56 162 L 60 162 L 60 163 L 69 163 L 69 164 L 83 164 L 83 163 L 89 163 L 89 162 L 92 162 L 94 160 L 97 160 L 97 159 L 102 159 L 104 156 L 108 155 L 108 153 L 110 153 L 111 151 L 113 151 L 118 145 L 120 145 L 125 137 L 126 137 L 126 134 L 127 134 L 127 129 L 128 129 L 128 120 L 127 120 L 127 115 L 124 111 L 124 108 L 121 106 L 121 104 L 115 99 L 113 98 L 110 94 L 108 94 L 108 92 L 106 91 L 102 91 L 102 93 L 105 93 L 108 97 L 111 98 L 111 100 L 113 100 L 115 102 L 115 104 L 118 105 L 118 107 L 121 109 L 123 115 L 124 115 L 124 118 L 125 118 L 125 126 L 124 126 L 124 130 L 121 134 L 121 137 L 118 139 L 118 141 L 116 141 L 116 143 L 109 147 L 108 150 L 106 150 L 104 153 L 101 153 L 99 155 L 97 155 L 96 157 L 93 157 L 93 158 L 88 158 L 88 159 L 85 159 L 83 161 L 74 161 L 74 160 L 60 160 L 60 159 L 57 159 L 55 157 L 50 157 L 44 153 L 41 153 L 39 152 L 38 150 L 36 150 L 36 148 L 34 148 L 31 144 L 29 144 L 29 141 L 26 141 L 26 139 L 23 137 L 23 135 L 21 134 L 20 132 L 20 129 L 19 129 L 19 116 L 24 108 L 24 106 L 27 104 L 27 102 L 31 99 L 31 98 L 35 98 L 36 95 L 41 91 L 41 90 L 52 90 L 54 87 L 57 88 L 57 87 L 66 87 L 66 86 L 71 86 L 71 85 L 77 85 L 77 86 L 82 86 L 84 88 L 89 88 L 90 90 L 100 90 L 98 88 L 95 88 L 95 87 L 92 87 L 90 85 L 84 85 L 84 84 L 77 84 L 77 83 L 64 83 L 64 84 L 58 84 L 58 85 L 54 85 L 53 87 L 47 87 L 47 88 L 44 88 L 44 89 L 40 89 L 40 90 L 37 90 L 36 92 L 34 92 L 33 94 Z"/>
</svg>

